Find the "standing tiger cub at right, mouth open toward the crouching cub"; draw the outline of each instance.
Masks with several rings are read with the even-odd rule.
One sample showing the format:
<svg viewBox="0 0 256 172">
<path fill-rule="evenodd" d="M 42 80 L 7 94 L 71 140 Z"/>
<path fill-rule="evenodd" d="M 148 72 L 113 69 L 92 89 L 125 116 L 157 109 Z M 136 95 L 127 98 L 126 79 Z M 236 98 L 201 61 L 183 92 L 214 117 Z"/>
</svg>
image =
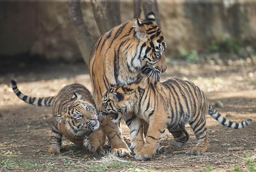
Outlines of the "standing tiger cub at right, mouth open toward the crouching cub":
<svg viewBox="0 0 256 172">
<path fill-rule="evenodd" d="M 149 78 L 144 78 L 137 84 L 111 87 L 102 98 L 100 115 L 114 113 L 111 117 L 114 121 L 121 118 L 119 114 L 127 112 L 134 112 L 149 124 L 145 145 L 135 155 L 137 160 L 151 158 L 156 153 L 157 143 L 166 128 L 172 133 L 174 142 L 162 146 L 160 153 L 169 153 L 183 146 L 189 139 L 186 123 L 190 124 L 197 138 L 196 146 L 186 153 L 203 155 L 209 143 L 206 114 L 233 129 L 244 128 L 252 122 L 251 119 L 242 123 L 228 121 L 210 104 L 202 90 L 181 79 L 150 82 Z"/>
</svg>

